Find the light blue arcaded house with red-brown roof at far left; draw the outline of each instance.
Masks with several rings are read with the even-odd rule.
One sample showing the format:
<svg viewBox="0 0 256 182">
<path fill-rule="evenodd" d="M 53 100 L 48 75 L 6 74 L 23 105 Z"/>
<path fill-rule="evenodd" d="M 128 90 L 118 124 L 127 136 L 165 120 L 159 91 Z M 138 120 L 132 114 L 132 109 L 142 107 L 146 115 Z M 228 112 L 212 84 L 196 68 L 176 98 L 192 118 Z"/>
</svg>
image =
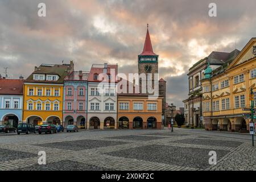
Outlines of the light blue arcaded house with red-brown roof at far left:
<svg viewBox="0 0 256 182">
<path fill-rule="evenodd" d="M 22 122 L 23 77 L 6 79 L 0 75 L 0 125 Z"/>
</svg>

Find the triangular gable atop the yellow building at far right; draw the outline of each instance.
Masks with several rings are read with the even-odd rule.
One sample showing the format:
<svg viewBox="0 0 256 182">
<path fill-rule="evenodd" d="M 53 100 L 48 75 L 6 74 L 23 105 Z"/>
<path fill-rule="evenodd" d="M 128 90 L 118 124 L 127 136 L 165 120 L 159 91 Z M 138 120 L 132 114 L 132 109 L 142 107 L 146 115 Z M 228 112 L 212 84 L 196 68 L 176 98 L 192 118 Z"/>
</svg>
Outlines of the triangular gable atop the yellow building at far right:
<svg viewBox="0 0 256 182">
<path fill-rule="evenodd" d="M 255 55 L 253 54 L 253 47 L 256 46 L 256 38 L 252 38 L 245 47 L 243 47 L 240 54 L 236 57 L 232 64 L 229 65 L 228 69 L 236 67 L 247 60 L 253 59 Z"/>
</svg>

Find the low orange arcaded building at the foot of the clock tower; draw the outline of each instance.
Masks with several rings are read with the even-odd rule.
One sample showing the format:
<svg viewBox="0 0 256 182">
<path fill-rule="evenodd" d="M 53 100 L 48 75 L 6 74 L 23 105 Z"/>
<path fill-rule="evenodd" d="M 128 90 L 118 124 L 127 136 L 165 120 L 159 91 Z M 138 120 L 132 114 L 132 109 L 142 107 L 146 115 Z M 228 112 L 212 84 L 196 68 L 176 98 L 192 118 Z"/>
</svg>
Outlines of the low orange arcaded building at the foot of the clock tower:
<svg viewBox="0 0 256 182">
<path fill-rule="evenodd" d="M 162 129 L 163 97 L 146 94 L 118 95 L 118 129 Z"/>
</svg>

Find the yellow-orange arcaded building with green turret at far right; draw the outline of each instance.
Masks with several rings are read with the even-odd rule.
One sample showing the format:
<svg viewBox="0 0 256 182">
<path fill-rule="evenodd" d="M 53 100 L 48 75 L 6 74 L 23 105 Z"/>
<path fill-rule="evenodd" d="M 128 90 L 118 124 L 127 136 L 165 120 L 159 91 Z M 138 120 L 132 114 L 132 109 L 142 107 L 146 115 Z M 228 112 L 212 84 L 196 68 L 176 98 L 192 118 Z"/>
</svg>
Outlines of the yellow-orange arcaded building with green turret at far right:
<svg viewBox="0 0 256 182">
<path fill-rule="evenodd" d="M 256 99 L 256 38 L 252 38 L 240 54 L 229 63 L 211 71 L 205 69 L 203 117 L 206 130 L 249 131 L 250 119 L 243 108 L 250 108 L 249 93 Z"/>
</svg>

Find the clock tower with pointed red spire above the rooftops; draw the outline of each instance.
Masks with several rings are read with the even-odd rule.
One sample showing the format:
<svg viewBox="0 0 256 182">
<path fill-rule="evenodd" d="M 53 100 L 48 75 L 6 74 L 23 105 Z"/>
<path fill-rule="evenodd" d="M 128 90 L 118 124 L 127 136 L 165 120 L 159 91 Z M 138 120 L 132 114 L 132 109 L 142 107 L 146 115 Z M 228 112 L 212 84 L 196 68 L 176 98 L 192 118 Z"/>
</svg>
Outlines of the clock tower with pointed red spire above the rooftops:
<svg viewBox="0 0 256 182">
<path fill-rule="evenodd" d="M 152 73 L 152 86 L 154 86 L 154 73 L 158 73 L 158 55 L 153 52 L 148 24 L 143 51 L 138 55 L 138 73 L 139 75 L 145 73 L 146 77 L 148 73 Z"/>
</svg>

